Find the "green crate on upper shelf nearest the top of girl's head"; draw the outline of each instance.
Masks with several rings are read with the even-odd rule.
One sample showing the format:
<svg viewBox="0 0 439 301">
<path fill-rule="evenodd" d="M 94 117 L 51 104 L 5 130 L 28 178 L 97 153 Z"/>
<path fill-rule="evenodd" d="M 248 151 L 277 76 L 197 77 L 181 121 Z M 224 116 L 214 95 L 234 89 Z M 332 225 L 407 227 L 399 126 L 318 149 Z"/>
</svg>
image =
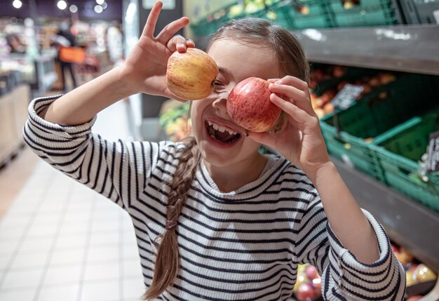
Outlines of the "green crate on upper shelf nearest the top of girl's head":
<svg viewBox="0 0 439 301">
<path fill-rule="evenodd" d="M 333 27 L 324 0 L 300 0 L 284 4 L 288 8 L 292 29 Z"/>
</svg>

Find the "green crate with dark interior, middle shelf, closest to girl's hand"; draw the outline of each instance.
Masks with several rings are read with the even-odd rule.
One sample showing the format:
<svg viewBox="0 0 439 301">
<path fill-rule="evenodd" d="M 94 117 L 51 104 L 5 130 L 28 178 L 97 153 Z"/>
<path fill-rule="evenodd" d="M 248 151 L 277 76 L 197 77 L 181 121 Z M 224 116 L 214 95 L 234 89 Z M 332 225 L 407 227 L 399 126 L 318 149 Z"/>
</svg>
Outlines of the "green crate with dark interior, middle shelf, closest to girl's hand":
<svg viewBox="0 0 439 301">
<path fill-rule="evenodd" d="M 320 120 L 328 152 L 351 163 L 379 180 L 384 173 L 370 145 L 380 141 L 380 135 L 435 105 L 433 76 L 403 74 L 396 81 L 376 88 L 349 109 L 337 112 L 339 132 L 334 115 Z M 437 81 L 437 80 L 436 80 Z M 382 96 L 385 98 L 382 99 Z"/>
</svg>

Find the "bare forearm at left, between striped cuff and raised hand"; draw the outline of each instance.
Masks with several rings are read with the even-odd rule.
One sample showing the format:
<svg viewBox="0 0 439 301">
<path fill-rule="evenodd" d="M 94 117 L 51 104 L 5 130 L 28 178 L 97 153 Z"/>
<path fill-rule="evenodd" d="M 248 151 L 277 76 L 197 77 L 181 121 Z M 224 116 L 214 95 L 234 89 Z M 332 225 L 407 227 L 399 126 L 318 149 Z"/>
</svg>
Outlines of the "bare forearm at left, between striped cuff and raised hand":
<svg viewBox="0 0 439 301">
<path fill-rule="evenodd" d="M 135 93 L 123 84 L 120 74 L 121 67 L 116 67 L 93 81 L 84 83 L 55 100 L 40 116 L 49 122 L 66 126 L 90 121 L 102 109 Z"/>
</svg>

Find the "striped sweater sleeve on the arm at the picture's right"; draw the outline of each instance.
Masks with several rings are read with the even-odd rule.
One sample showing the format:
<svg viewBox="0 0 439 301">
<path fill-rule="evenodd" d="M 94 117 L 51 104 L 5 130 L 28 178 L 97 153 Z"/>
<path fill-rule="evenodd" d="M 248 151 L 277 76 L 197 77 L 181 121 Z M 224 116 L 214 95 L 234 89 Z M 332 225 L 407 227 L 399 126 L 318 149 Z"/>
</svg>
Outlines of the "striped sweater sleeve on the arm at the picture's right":
<svg viewBox="0 0 439 301">
<path fill-rule="evenodd" d="M 311 201 L 302 218 L 297 256 L 311 263 L 322 276 L 324 300 L 403 300 L 405 271 L 391 250 L 379 222 L 363 210 L 377 236 L 379 259 L 365 264 L 337 239 L 319 199 Z"/>
</svg>

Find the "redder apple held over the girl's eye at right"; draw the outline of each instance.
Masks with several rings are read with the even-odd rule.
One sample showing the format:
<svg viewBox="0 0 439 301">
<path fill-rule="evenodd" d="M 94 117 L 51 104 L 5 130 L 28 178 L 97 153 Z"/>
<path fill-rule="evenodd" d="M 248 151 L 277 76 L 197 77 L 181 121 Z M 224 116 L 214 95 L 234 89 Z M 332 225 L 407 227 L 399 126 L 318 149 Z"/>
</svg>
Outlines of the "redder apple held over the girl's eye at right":
<svg viewBox="0 0 439 301">
<path fill-rule="evenodd" d="M 270 100 L 269 82 L 249 77 L 238 83 L 227 99 L 227 112 L 248 131 L 262 133 L 276 125 L 281 109 Z"/>
</svg>

